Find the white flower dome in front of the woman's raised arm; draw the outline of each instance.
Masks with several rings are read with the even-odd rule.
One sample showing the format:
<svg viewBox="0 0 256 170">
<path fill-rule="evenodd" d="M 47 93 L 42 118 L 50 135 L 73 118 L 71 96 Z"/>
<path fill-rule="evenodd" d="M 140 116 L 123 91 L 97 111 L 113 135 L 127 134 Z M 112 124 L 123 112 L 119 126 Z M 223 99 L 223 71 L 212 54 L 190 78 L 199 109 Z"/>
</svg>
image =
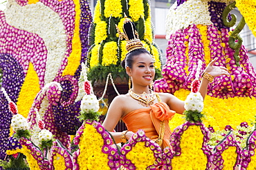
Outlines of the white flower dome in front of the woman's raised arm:
<svg viewBox="0 0 256 170">
<path fill-rule="evenodd" d="M 199 92 L 191 92 L 185 100 L 185 109 L 192 111 L 203 111 L 203 97 Z"/>
</svg>

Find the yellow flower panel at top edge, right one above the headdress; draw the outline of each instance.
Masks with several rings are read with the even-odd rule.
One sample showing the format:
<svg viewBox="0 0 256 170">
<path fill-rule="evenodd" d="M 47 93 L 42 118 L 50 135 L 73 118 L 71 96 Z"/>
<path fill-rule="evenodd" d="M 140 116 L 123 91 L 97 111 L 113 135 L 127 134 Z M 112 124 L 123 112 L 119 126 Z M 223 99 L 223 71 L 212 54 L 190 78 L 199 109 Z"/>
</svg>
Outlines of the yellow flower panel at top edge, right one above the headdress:
<svg viewBox="0 0 256 170">
<path fill-rule="evenodd" d="M 129 1 L 129 16 L 136 22 L 140 17 L 144 18 L 143 0 L 130 0 Z"/>
</svg>

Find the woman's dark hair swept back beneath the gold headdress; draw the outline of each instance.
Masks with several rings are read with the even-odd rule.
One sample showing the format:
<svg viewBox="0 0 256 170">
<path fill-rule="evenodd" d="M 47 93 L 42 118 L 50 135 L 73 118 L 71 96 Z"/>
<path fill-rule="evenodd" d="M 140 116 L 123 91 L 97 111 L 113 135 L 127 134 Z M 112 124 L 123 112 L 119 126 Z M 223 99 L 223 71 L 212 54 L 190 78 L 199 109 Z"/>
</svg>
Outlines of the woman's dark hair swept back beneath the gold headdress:
<svg viewBox="0 0 256 170">
<path fill-rule="evenodd" d="M 140 48 L 140 49 L 136 49 L 133 50 L 131 52 L 128 52 L 125 56 L 125 59 L 121 62 L 121 65 L 123 68 L 125 67 L 130 67 L 131 65 L 134 63 L 134 56 L 138 56 L 140 54 L 149 54 L 151 55 L 146 49 L 144 48 Z"/>
</svg>

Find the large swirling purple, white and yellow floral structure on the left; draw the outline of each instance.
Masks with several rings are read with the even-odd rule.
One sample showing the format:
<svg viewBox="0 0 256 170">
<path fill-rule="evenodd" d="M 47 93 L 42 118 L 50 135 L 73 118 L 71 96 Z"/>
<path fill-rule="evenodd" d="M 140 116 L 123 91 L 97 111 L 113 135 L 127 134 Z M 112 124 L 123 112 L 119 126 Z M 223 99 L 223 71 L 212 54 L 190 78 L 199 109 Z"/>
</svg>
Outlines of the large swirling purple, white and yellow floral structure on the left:
<svg viewBox="0 0 256 170">
<path fill-rule="evenodd" d="M 33 134 L 39 132 L 36 109 L 47 122 L 45 129 L 68 149 L 69 135 L 82 125 L 77 118 L 84 95 L 80 72 L 91 21 L 89 3 L 84 0 L 8 0 L 6 10 L 0 11 L 2 87 L 19 114 L 28 118 L 33 141 L 37 141 Z M 3 160 L 12 136 L 12 114 L 2 92 L 0 96 Z"/>
</svg>

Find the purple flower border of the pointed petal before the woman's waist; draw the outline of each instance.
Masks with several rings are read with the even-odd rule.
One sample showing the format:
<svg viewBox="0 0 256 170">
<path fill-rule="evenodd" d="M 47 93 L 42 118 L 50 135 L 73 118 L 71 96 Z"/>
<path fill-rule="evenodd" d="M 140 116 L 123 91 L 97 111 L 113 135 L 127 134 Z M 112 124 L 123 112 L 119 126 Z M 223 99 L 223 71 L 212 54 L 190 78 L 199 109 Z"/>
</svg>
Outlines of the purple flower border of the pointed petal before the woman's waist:
<svg viewBox="0 0 256 170">
<path fill-rule="evenodd" d="M 134 162 L 131 162 L 131 160 L 127 159 L 127 154 L 129 152 L 132 153 L 132 149 L 138 144 L 139 142 L 143 142 L 145 147 L 148 147 L 152 153 L 154 154 L 154 164 L 149 165 L 148 167 L 144 167 L 144 169 L 156 169 L 159 166 L 163 166 L 163 160 L 162 160 L 162 150 L 161 147 L 159 147 L 156 142 L 150 140 L 145 136 L 145 132 L 142 129 L 139 129 L 134 136 L 132 136 L 129 139 L 129 142 L 122 146 L 120 149 L 121 155 L 120 155 L 120 165 L 125 167 L 126 169 L 136 169 Z M 168 152 L 168 151 L 167 151 Z M 168 155 L 169 156 L 169 155 Z M 134 156 L 137 160 L 144 161 L 143 158 L 137 158 Z M 148 161 L 148 160 L 147 160 Z"/>
</svg>

